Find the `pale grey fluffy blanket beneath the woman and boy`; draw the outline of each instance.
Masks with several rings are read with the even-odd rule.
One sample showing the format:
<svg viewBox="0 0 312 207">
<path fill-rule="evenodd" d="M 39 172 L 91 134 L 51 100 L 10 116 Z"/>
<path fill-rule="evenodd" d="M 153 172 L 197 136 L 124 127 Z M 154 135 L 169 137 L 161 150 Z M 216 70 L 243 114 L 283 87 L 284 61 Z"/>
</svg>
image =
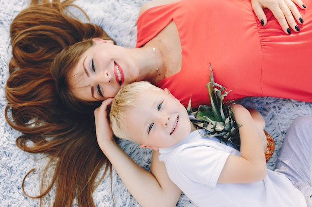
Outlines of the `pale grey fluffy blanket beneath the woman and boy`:
<svg viewBox="0 0 312 207">
<path fill-rule="evenodd" d="M 146 1 L 148 0 L 77 0 L 76 4 L 87 12 L 92 23 L 106 30 L 117 44 L 134 47 L 137 13 Z M 38 195 L 40 173 L 47 161 L 44 155 L 34 156 L 17 148 L 15 139 L 20 133 L 12 130 L 4 118 L 6 105 L 4 86 L 11 57 L 9 28 L 14 17 L 27 5 L 27 0 L 0 0 L 0 207 L 38 207 L 37 199 L 28 198 L 23 194 L 21 183 L 27 172 L 32 168 L 37 168 L 26 179 L 25 187 L 28 194 Z M 71 10 L 77 17 L 86 21 L 77 9 Z M 241 103 L 246 107 L 258 109 L 265 117 L 266 130 L 276 142 L 275 153 L 268 162 L 268 168 L 274 169 L 288 126 L 299 116 L 312 116 L 312 104 L 270 97 L 246 98 Z M 128 141 L 122 141 L 120 145 L 140 166 L 149 170 L 150 150 L 140 149 L 136 144 Z M 116 207 L 140 206 L 127 191 L 114 169 L 112 183 Z M 50 199 L 45 199 L 44 204 L 52 204 L 53 193 L 54 189 L 50 192 Z M 95 190 L 93 197 L 98 207 L 113 207 L 108 175 Z M 74 204 L 74 206 L 77 205 Z M 195 207 L 184 195 L 181 196 L 177 206 Z"/>
</svg>

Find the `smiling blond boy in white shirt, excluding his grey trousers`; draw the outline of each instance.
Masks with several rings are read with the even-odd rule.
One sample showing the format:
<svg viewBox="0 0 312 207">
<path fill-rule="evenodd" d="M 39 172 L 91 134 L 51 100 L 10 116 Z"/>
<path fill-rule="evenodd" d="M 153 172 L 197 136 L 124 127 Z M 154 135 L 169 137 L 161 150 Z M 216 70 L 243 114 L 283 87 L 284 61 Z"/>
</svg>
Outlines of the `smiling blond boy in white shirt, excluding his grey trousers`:
<svg viewBox="0 0 312 207">
<path fill-rule="evenodd" d="M 148 82 L 118 92 L 110 123 L 117 137 L 159 150 L 171 180 L 199 207 L 307 207 L 285 175 L 266 168 L 261 114 L 231 107 L 242 125 L 240 152 L 200 136 L 179 100 Z"/>
</svg>

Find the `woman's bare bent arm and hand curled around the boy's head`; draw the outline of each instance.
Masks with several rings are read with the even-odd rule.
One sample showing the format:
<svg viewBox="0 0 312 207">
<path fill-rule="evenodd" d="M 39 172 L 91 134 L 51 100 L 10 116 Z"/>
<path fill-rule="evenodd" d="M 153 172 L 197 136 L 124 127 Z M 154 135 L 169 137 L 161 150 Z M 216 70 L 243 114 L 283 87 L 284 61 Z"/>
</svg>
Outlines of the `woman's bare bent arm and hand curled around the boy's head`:
<svg viewBox="0 0 312 207">
<path fill-rule="evenodd" d="M 165 165 L 153 152 L 151 172 L 135 163 L 114 141 L 113 132 L 107 120 L 107 106 L 112 99 L 103 101 L 95 110 L 98 144 L 114 166 L 133 197 L 142 207 L 175 207 L 181 190 L 170 180 Z"/>
</svg>

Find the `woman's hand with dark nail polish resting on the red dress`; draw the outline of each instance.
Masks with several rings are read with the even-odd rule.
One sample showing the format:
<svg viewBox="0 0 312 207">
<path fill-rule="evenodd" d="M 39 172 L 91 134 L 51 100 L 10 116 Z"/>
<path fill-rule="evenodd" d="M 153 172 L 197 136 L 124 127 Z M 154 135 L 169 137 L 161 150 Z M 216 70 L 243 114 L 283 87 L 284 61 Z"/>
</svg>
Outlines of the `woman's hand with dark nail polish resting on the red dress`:
<svg viewBox="0 0 312 207">
<path fill-rule="evenodd" d="M 268 8 L 272 11 L 286 34 L 291 33 L 289 27 L 295 32 L 298 32 L 299 28 L 297 23 L 303 23 L 303 19 L 296 7 L 297 4 L 301 9 L 305 9 L 305 5 L 301 0 L 251 0 L 251 4 L 263 26 L 267 24 L 267 17 L 263 11 L 264 8 Z"/>
</svg>

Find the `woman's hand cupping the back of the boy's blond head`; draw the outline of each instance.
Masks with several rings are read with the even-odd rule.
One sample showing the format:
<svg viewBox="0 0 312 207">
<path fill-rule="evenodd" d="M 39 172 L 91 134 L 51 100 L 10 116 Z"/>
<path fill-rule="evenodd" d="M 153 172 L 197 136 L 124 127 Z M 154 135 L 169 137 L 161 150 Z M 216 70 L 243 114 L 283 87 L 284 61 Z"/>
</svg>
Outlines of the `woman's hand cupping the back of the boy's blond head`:
<svg viewBox="0 0 312 207">
<path fill-rule="evenodd" d="M 113 131 L 107 119 L 107 108 L 112 101 L 113 98 L 108 98 L 102 102 L 99 108 L 94 110 L 96 137 L 102 150 L 106 141 L 113 140 Z"/>
</svg>

